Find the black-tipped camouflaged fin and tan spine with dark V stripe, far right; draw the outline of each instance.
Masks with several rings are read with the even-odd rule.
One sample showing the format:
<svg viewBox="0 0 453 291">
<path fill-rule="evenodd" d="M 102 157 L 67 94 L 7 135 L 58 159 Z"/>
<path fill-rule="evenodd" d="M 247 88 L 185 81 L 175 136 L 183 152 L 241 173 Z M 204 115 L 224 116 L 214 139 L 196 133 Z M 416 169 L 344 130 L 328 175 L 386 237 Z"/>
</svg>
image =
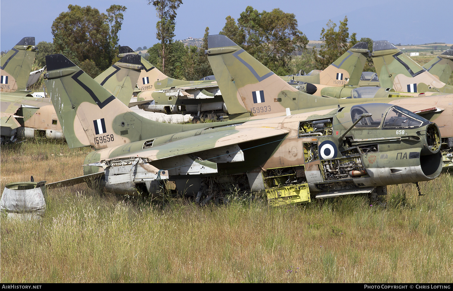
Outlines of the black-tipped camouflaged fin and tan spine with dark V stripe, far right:
<svg viewBox="0 0 453 291">
<path fill-rule="evenodd" d="M 373 42 L 374 67 L 381 87 L 399 92 L 453 93 L 446 85 L 386 40 Z"/>
</svg>

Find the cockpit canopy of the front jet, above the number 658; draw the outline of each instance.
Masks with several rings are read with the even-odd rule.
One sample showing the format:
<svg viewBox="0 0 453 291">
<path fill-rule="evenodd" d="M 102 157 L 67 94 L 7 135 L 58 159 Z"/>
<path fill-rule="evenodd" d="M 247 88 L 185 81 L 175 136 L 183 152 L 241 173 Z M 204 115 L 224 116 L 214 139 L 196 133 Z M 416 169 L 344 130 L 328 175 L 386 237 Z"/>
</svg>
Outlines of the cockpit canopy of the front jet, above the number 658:
<svg viewBox="0 0 453 291">
<path fill-rule="evenodd" d="M 375 127 L 382 129 L 417 128 L 430 123 L 423 117 L 400 106 L 385 103 L 369 103 L 351 107 L 351 120 L 355 122 L 364 113 L 371 116 L 362 118 L 355 127 Z M 384 120 L 384 122 L 382 122 Z"/>
</svg>

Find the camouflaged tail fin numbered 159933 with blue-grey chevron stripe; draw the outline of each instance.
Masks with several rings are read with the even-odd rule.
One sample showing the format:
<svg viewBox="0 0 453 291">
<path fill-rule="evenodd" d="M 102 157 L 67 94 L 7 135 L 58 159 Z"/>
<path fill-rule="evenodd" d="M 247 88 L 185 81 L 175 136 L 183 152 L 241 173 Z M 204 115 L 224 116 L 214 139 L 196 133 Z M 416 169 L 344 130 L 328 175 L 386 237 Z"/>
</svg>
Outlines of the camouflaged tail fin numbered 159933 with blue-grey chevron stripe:
<svg viewBox="0 0 453 291">
<path fill-rule="evenodd" d="M 300 96 L 225 35 L 209 35 L 205 51 L 229 114 L 260 115 L 297 110 Z"/>
</svg>

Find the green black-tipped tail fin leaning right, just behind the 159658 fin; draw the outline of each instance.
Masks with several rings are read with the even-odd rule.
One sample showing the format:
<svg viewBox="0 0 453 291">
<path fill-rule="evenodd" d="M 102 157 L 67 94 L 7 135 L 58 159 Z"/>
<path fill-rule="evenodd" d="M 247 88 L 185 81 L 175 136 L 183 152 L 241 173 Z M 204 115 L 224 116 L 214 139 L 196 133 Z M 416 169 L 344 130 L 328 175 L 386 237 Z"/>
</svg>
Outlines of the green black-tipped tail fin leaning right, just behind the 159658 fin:
<svg viewBox="0 0 453 291">
<path fill-rule="evenodd" d="M 142 68 L 140 55 L 127 54 L 94 80 L 125 105 L 129 105 Z"/>
</svg>

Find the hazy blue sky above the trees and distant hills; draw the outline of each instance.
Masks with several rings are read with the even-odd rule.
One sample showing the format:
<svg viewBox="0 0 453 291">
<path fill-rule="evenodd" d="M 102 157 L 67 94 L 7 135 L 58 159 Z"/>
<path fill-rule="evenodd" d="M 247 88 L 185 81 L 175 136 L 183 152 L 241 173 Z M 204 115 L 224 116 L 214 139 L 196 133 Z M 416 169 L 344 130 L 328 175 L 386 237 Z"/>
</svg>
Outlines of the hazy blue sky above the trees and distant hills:
<svg viewBox="0 0 453 291">
<path fill-rule="evenodd" d="M 67 11 L 69 4 L 91 5 L 100 12 L 112 4 L 125 5 L 120 45 L 133 49 L 150 47 L 158 42 L 155 38 L 158 19 L 154 7 L 147 3 L 147 0 L 2 0 L 0 48 L 8 50 L 25 36 L 34 36 L 36 43 L 52 42 L 53 20 Z M 177 11 L 175 39 L 202 38 L 207 26 L 211 34 L 217 34 L 225 25 L 226 16 L 239 18 L 247 5 L 258 11 L 280 8 L 294 13 L 299 29 L 310 40 L 319 40 L 321 29 L 329 19 L 338 24 L 347 15 L 349 32 L 356 32 L 358 39 L 369 37 L 401 44 L 453 43 L 450 4 L 440 0 L 183 0 Z"/>
</svg>

